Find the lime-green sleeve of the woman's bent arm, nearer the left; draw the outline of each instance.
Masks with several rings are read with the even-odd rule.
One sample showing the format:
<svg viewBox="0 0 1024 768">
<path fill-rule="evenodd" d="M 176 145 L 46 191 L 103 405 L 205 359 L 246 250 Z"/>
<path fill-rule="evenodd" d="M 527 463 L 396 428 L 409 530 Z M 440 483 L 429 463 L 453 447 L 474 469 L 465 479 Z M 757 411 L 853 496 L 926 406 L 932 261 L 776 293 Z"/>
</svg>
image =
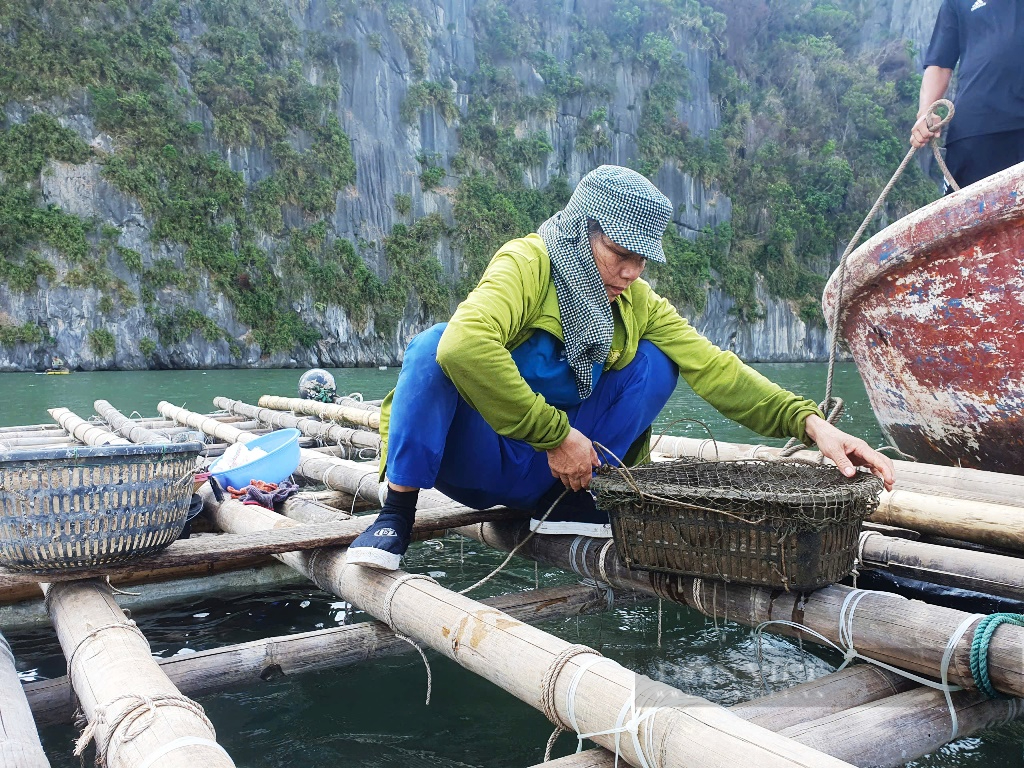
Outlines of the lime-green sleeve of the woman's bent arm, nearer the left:
<svg viewBox="0 0 1024 768">
<path fill-rule="evenodd" d="M 466 402 L 498 434 L 538 451 L 565 439 L 568 417 L 529 388 L 508 344 L 538 309 L 545 271 L 538 259 L 499 252 L 437 345 L 437 362 Z"/>
</svg>

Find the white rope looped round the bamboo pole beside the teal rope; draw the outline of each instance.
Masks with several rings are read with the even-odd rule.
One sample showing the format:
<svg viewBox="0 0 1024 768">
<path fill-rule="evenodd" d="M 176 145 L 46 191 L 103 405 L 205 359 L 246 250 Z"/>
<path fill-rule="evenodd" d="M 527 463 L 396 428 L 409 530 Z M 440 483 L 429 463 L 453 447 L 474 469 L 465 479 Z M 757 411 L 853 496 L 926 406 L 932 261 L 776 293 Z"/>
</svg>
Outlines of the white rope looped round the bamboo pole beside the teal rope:
<svg viewBox="0 0 1024 768">
<path fill-rule="evenodd" d="M 762 667 L 761 640 L 764 629 L 766 627 L 770 627 L 773 625 L 779 625 L 782 627 L 792 627 L 793 629 L 799 630 L 800 632 L 806 632 L 808 635 L 817 638 L 825 645 L 831 646 L 837 651 L 843 654 L 843 664 L 841 664 L 836 669 L 836 672 L 840 672 L 843 669 L 845 669 L 855 658 L 861 658 L 864 662 L 867 662 L 868 664 L 874 665 L 876 667 L 881 667 L 882 669 L 900 675 L 901 677 L 904 677 L 907 680 L 912 680 L 919 685 L 925 685 L 928 686 L 929 688 L 934 688 L 935 690 L 942 691 L 942 693 L 945 695 L 946 707 L 949 710 L 949 722 L 951 727 L 951 734 L 949 740 L 952 741 L 953 739 L 956 738 L 956 736 L 959 733 L 959 723 L 956 718 L 956 708 L 953 706 L 952 696 L 950 694 L 954 691 L 964 690 L 964 686 L 951 685 L 949 683 L 949 663 L 952 660 L 953 654 L 956 651 L 956 646 L 963 639 L 964 635 L 967 634 L 968 630 L 971 629 L 972 625 L 974 625 L 975 622 L 984 618 L 984 615 L 981 613 L 972 613 L 971 615 L 967 616 L 967 618 L 965 618 L 959 624 L 959 626 L 953 631 L 953 633 L 949 636 L 949 639 L 946 641 L 945 650 L 942 653 L 942 660 L 939 665 L 939 677 L 941 679 L 941 682 L 936 683 L 934 680 L 929 680 L 926 677 L 914 675 L 912 672 L 907 672 L 906 670 L 901 670 L 898 667 L 893 667 L 892 665 L 886 664 L 885 662 L 881 662 L 877 658 L 865 656 L 863 653 L 860 653 L 856 649 L 853 641 L 853 615 L 860 601 L 866 595 L 869 594 L 871 593 L 867 590 L 853 590 L 846 596 L 846 599 L 843 601 L 843 605 L 840 608 L 840 614 L 839 614 L 839 642 L 840 642 L 839 645 L 834 643 L 824 635 L 821 635 L 820 633 L 812 630 L 810 627 L 805 627 L 804 625 L 799 624 L 798 622 L 787 622 L 785 620 L 776 618 L 770 622 L 762 622 L 757 627 L 755 627 L 754 635 L 757 638 L 757 643 L 758 643 L 757 645 L 758 667 L 761 672 L 762 681 L 764 680 L 764 669 Z"/>
</svg>

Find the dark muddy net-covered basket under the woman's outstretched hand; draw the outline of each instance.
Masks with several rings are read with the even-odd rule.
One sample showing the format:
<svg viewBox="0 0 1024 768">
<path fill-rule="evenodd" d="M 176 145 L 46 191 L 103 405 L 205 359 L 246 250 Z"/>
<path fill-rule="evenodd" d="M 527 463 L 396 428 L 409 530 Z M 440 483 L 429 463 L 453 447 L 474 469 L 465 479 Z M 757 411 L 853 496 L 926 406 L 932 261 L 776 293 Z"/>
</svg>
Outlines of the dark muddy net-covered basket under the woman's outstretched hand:
<svg viewBox="0 0 1024 768">
<path fill-rule="evenodd" d="M 591 489 L 628 567 L 805 591 L 853 569 L 882 484 L 807 462 L 680 460 L 608 467 Z"/>
</svg>

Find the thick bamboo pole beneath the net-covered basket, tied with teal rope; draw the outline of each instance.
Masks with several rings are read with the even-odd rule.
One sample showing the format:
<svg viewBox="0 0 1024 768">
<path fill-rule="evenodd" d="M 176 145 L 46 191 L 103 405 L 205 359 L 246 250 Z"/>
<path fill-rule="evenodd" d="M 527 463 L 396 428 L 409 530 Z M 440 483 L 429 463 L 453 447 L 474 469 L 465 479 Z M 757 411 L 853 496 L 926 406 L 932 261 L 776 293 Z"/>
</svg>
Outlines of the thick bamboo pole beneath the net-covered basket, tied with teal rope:
<svg viewBox="0 0 1024 768">
<path fill-rule="evenodd" d="M 488 523 L 460 528 L 459 532 L 508 551 L 519 544 L 528 530 L 521 523 Z M 620 564 L 613 545 L 603 549 L 603 541 L 581 538 L 581 543 L 573 548 L 573 539 L 534 537 L 519 554 L 578 573 L 599 577 L 616 589 L 634 587 L 684 603 L 702 613 L 717 613 L 720 617 L 750 626 L 773 620 L 796 622 L 840 643 L 840 615 L 852 592 L 848 587 L 836 585 L 801 596 L 690 577 L 631 571 Z M 899 595 L 865 592 L 852 618 L 849 615 L 848 618 L 859 652 L 900 669 L 937 678 L 950 636 L 969 615 Z M 784 627 L 769 629 L 792 634 Z M 805 639 L 814 641 L 809 635 L 805 635 Z M 949 680 L 973 687 L 971 639 L 972 634 L 968 632 L 956 644 L 949 665 Z M 1021 658 L 1024 658 L 1024 628 L 1000 626 L 992 635 L 988 653 L 989 675 L 997 690 L 1014 696 L 1024 695 Z"/>
</svg>

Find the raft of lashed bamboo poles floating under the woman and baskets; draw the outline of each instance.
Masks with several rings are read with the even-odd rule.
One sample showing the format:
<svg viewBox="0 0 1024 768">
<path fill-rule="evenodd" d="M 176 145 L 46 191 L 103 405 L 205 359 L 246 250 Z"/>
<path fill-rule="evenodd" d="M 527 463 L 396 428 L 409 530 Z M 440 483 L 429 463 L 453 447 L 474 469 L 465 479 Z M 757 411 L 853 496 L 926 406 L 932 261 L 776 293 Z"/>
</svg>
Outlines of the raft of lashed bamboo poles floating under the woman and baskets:
<svg viewBox="0 0 1024 768">
<path fill-rule="evenodd" d="M 94 741 L 112 768 L 185 768 L 198 760 L 230 766 L 215 724 L 190 696 L 411 652 L 410 641 L 501 686 L 558 728 L 594 734 L 596 749 L 543 763 L 552 768 L 612 766 L 616 754 L 642 768 L 897 766 L 1024 715 L 1022 627 L 1005 624 L 991 635 L 988 676 L 1006 697 L 990 698 L 978 689 L 970 664 L 971 630 L 980 615 L 842 585 L 799 595 L 629 570 L 610 543 L 530 537 L 523 512 L 474 511 L 434 490 L 420 494 L 414 538 L 455 531 L 585 581 L 477 601 L 423 574 L 349 567 L 345 547 L 373 519 L 355 513 L 379 506 L 379 407 L 270 396 L 255 406 L 217 397 L 214 406 L 216 413 L 203 415 L 161 402 L 159 418 L 132 420 L 97 400 L 90 420 L 54 409 L 55 424 L 0 428 L 0 461 L 8 450 L 197 435 L 209 460 L 232 443 L 297 429 L 294 476 L 308 486 L 276 510 L 218 498 L 205 486 L 212 530 L 128 563 L 45 577 L 0 568 L 0 631 L 9 635 L 48 621 L 69 671 L 20 683 L 0 635 L 0 768 L 48 765 L 36 728 L 71 722 L 72 693 L 87 721 L 77 752 Z M 663 437 L 654 447 L 663 458 L 770 459 L 778 453 L 678 437 Z M 1024 477 L 896 465 L 897 489 L 883 495 L 861 535 L 859 568 L 1024 601 L 1018 522 Z M 299 581 L 378 621 L 155 659 L 142 630 L 113 595 L 115 586 L 139 586 L 130 605 L 140 610 Z M 621 604 L 671 601 L 716 622 L 784 622 L 763 629 L 833 643 L 850 658 L 883 666 L 854 665 L 726 709 L 532 626 L 607 609 L 609 595 Z M 926 684 L 940 678 L 962 689 Z"/>
</svg>

